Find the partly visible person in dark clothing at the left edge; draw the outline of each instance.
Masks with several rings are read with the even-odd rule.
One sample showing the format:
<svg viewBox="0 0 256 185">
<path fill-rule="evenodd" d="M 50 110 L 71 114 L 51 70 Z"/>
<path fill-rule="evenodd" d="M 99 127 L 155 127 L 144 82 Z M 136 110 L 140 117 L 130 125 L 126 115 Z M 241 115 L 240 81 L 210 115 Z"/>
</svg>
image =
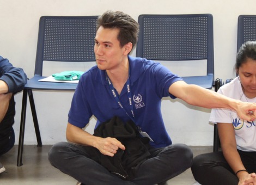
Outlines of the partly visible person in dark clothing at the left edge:
<svg viewBox="0 0 256 185">
<path fill-rule="evenodd" d="M 14 95 L 21 91 L 26 83 L 27 75 L 23 69 L 14 67 L 8 59 L 0 56 L 0 155 L 14 146 Z M 0 173 L 4 171 L 5 168 L 0 163 Z"/>
</svg>

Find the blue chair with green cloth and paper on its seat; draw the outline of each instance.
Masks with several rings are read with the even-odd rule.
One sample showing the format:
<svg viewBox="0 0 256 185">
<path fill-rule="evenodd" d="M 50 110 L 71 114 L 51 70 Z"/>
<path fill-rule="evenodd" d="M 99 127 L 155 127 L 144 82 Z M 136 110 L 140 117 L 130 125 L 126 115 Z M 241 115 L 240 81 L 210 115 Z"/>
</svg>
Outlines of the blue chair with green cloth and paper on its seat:
<svg viewBox="0 0 256 185">
<path fill-rule="evenodd" d="M 23 141 L 27 109 L 27 95 L 32 110 L 38 146 L 42 146 L 32 90 L 67 91 L 76 89 L 76 83 L 39 82 L 44 61 L 95 61 L 94 38 L 97 16 L 42 16 L 39 21 L 34 77 L 23 90 L 21 125 L 17 166 L 22 165 Z"/>
</svg>

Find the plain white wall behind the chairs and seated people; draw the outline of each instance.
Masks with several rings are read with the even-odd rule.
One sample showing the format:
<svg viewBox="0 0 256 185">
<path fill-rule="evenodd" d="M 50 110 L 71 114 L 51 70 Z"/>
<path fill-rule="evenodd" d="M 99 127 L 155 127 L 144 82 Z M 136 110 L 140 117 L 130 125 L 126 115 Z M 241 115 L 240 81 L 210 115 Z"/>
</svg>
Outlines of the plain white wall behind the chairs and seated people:
<svg viewBox="0 0 256 185">
<path fill-rule="evenodd" d="M 121 10 L 137 20 L 140 14 L 200 14 L 214 16 L 215 78 L 234 77 L 237 17 L 256 14 L 256 1 L 246 0 L 0 0 L 0 55 L 22 67 L 28 77 L 34 73 L 38 23 L 43 15 L 101 15 L 106 10 Z M 132 53 L 135 55 L 135 52 Z M 83 66 L 86 70 L 89 66 Z M 182 71 L 182 69 L 179 69 Z M 34 91 L 43 144 L 65 140 L 67 115 L 73 92 Z M 15 96 L 16 144 L 19 139 L 22 93 Z M 189 106 L 179 100 L 162 101 L 167 130 L 174 143 L 212 145 L 214 127 L 210 110 Z M 89 131 L 95 124 L 89 125 Z M 32 116 L 27 109 L 25 144 L 36 144 Z"/>
</svg>

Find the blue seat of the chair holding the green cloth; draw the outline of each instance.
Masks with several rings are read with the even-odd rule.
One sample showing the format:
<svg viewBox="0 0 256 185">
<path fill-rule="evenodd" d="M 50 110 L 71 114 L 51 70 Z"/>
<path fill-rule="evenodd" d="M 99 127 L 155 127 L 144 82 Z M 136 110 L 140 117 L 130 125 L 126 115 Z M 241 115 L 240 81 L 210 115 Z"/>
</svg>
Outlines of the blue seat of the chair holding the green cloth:
<svg viewBox="0 0 256 185">
<path fill-rule="evenodd" d="M 34 76 L 29 79 L 25 85 L 25 89 L 39 90 L 75 90 L 77 83 L 62 83 L 62 82 L 40 82 L 39 79 L 46 78 L 44 76 Z"/>
</svg>

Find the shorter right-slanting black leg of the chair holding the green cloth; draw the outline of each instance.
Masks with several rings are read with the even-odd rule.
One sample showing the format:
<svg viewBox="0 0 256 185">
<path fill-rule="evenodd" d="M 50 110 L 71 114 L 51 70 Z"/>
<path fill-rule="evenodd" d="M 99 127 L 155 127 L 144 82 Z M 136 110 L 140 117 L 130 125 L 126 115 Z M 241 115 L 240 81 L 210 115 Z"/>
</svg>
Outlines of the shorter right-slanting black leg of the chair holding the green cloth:
<svg viewBox="0 0 256 185">
<path fill-rule="evenodd" d="M 36 140 L 38 141 L 37 146 L 42 146 L 42 140 L 41 140 L 40 129 L 38 124 L 38 116 L 36 115 L 35 102 L 34 102 L 34 97 L 31 89 L 28 90 L 28 97 L 29 97 L 29 102 L 31 106 L 31 112 L 32 112 L 32 117 L 33 117 L 33 122 L 35 127 Z"/>
</svg>

